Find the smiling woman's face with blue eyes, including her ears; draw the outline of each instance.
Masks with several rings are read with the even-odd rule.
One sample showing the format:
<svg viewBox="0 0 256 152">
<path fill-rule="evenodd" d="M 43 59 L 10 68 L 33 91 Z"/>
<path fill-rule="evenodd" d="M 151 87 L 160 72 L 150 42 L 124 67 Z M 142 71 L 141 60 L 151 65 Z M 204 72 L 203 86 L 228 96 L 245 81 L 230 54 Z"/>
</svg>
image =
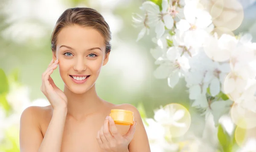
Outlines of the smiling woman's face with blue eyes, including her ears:
<svg viewBox="0 0 256 152">
<path fill-rule="evenodd" d="M 108 62 L 105 42 L 93 28 L 73 25 L 61 29 L 53 58 L 59 60 L 61 79 L 73 93 L 85 93 Z"/>
</svg>

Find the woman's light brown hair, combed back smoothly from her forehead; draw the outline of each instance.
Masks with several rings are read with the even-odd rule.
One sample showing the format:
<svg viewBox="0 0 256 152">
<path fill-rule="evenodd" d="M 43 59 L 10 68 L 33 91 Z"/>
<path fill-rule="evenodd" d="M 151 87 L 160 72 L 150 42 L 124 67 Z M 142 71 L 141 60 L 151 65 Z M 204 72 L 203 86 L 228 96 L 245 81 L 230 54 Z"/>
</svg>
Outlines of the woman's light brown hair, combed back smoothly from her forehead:
<svg viewBox="0 0 256 152">
<path fill-rule="evenodd" d="M 51 49 L 56 51 L 57 37 L 64 27 L 80 25 L 99 31 L 105 40 L 106 53 L 111 51 L 111 31 L 104 17 L 93 8 L 68 8 L 58 18 L 51 36 Z"/>
</svg>

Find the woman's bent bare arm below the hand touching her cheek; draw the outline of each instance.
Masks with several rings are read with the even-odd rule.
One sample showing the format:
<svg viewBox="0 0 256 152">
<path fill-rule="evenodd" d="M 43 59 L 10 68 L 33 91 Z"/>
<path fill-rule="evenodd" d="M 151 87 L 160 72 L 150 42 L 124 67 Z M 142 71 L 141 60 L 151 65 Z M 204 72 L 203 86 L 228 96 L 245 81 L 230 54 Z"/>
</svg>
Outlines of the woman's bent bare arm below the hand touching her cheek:
<svg viewBox="0 0 256 152">
<path fill-rule="evenodd" d="M 20 152 L 60 152 L 67 109 L 53 110 L 43 138 L 38 116 L 41 107 L 28 107 L 20 118 Z"/>
</svg>

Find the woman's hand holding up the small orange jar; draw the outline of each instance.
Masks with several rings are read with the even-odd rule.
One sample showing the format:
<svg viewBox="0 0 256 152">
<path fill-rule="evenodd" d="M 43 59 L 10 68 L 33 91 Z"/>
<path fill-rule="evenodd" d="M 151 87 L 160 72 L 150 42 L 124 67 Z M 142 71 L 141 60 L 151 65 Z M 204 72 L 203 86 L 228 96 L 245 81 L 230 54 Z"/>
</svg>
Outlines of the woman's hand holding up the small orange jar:
<svg viewBox="0 0 256 152">
<path fill-rule="evenodd" d="M 111 116 L 107 116 L 104 125 L 99 130 L 96 137 L 99 146 L 104 149 L 105 152 L 129 152 L 128 145 L 134 136 L 135 126 L 136 122 L 131 125 L 128 132 L 122 136 L 118 132 Z"/>
</svg>

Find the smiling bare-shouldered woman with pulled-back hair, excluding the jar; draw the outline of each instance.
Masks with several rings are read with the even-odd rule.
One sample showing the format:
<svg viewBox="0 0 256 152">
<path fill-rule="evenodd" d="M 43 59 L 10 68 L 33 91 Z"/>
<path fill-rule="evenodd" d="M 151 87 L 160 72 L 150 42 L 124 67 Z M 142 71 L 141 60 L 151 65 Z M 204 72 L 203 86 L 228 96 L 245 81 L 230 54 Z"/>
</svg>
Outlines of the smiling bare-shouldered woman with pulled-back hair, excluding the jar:
<svg viewBox="0 0 256 152">
<path fill-rule="evenodd" d="M 109 26 L 96 10 L 61 14 L 52 33 L 52 62 L 42 74 L 41 91 L 51 105 L 23 111 L 20 152 L 150 152 L 138 110 L 97 96 L 95 82 L 108 62 L 110 40 Z M 50 77 L 57 66 L 64 91 Z M 134 124 L 114 124 L 111 109 L 133 111 Z"/>
</svg>

